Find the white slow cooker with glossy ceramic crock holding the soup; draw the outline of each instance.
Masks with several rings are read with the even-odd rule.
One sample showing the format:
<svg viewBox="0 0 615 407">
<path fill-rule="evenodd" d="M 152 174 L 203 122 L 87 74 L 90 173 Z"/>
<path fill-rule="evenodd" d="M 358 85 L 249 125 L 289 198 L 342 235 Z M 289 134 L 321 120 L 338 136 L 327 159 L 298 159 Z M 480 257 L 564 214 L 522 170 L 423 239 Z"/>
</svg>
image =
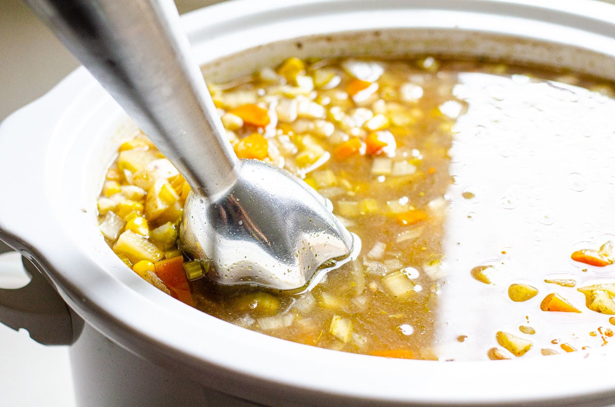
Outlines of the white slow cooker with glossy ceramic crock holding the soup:
<svg viewBox="0 0 615 407">
<path fill-rule="evenodd" d="M 529 0 L 235 0 L 183 16 L 216 82 L 297 57 L 486 57 L 615 79 L 615 6 Z M 33 275 L 0 320 L 70 344 L 82 405 L 606 405 L 611 347 L 502 362 L 352 355 L 203 314 L 125 267 L 96 197 L 135 130 L 79 68 L 0 127 L 0 239 Z M 28 165 L 24 165 L 27 162 Z M 549 372 L 567 372 L 565 376 Z"/>
</svg>

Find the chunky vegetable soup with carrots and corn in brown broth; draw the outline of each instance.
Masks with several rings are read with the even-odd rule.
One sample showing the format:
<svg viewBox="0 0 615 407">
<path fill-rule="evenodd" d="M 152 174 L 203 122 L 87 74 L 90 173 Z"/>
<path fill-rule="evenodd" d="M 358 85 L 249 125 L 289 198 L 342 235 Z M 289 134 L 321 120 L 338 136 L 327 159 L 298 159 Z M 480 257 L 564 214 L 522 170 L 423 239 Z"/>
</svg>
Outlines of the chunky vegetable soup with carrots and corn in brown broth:
<svg viewBox="0 0 615 407">
<path fill-rule="evenodd" d="M 161 290 L 247 329 L 384 357 L 552 355 L 613 336 L 615 224 L 599 215 L 615 197 L 611 84 L 433 57 L 290 58 L 210 92 L 237 156 L 303 178 L 362 251 L 298 294 L 200 278 L 177 247 L 189 186 L 137 134 L 106 174 L 100 228 Z"/>
</svg>

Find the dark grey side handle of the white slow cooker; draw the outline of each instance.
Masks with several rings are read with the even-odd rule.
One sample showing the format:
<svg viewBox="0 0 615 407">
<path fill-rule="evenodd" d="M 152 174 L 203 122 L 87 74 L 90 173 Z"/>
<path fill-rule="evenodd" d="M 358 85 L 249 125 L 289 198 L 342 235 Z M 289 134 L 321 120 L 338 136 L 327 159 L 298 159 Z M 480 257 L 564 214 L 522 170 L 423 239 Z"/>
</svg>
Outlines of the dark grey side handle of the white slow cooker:
<svg viewBox="0 0 615 407">
<path fill-rule="evenodd" d="M 11 250 L 0 240 L 0 253 Z M 22 263 L 31 276 L 30 283 L 14 290 L 0 289 L 0 322 L 15 331 L 28 330 L 30 338 L 43 345 L 72 344 L 68 306 L 33 261 L 22 255 Z"/>
</svg>

